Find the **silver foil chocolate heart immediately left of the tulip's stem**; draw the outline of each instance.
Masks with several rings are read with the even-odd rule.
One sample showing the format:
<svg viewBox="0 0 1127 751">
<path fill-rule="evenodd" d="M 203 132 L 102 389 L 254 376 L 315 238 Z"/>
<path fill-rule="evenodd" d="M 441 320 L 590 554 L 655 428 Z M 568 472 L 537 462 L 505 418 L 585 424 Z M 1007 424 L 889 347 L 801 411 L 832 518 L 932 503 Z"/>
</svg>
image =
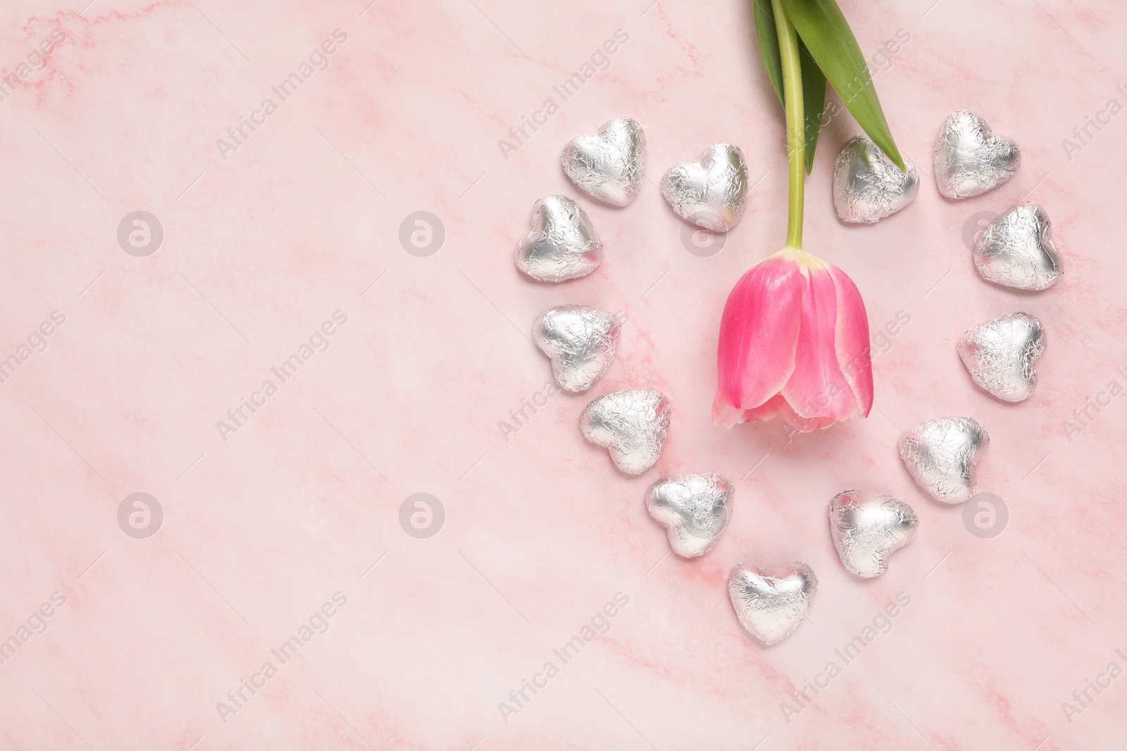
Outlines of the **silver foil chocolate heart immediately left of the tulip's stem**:
<svg viewBox="0 0 1127 751">
<path fill-rule="evenodd" d="M 698 226 L 727 232 L 744 215 L 747 164 L 744 153 L 713 143 L 699 162 L 682 162 L 662 177 L 662 195 L 673 211 Z"/>
</svg>

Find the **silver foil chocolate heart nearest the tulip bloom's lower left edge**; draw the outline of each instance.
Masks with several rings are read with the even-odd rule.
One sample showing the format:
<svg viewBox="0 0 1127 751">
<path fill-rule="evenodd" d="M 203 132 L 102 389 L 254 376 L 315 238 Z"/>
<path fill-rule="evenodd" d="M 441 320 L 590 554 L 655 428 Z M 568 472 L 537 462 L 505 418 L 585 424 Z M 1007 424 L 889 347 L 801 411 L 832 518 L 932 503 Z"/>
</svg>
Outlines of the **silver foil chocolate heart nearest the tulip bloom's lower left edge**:
<svg viewBox="0 0 1127 751">
<path fill-rule="evenodd" d="M 579 430 L 591 442 L 607 448 L 619 470 L 645 474 L 662 456 L 669 430 L 669 400 L 653 388 L 604 394 L 579 415 Z"/>
</svg>

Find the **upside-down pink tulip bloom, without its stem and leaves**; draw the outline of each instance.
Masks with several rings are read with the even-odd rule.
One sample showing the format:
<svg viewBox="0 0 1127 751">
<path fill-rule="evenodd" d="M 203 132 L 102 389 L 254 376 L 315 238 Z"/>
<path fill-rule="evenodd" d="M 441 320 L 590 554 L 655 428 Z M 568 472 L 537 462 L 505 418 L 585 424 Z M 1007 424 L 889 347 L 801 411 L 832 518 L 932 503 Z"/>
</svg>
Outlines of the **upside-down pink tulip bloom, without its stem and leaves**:
<svg viewBox="0 0 1127 751">
<path fill-rule="evenodd" d="M 781 417 L 801 431 L 868 417 L 869 319 L 853 280 L 784 248 L 752 267 L 720 321 L 712 421 L 731 427 Z"/>
</svg>

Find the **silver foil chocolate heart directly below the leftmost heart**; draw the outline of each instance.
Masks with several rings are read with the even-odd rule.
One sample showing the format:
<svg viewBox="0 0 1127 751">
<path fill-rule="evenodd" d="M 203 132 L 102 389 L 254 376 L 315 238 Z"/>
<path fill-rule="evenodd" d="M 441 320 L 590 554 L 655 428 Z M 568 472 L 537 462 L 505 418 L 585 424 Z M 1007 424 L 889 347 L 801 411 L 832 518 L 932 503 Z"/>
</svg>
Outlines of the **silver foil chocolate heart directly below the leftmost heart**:
<svg viewBox="0 0 1127 751">
<path fill-rule="evenodd" d="M 622 327 L 613 313 L 586 305 L 558 305 L 532 327 L 532 340 L 552 361 L 564 391 L 587 391 L 614 360 Z"/>
</svg>

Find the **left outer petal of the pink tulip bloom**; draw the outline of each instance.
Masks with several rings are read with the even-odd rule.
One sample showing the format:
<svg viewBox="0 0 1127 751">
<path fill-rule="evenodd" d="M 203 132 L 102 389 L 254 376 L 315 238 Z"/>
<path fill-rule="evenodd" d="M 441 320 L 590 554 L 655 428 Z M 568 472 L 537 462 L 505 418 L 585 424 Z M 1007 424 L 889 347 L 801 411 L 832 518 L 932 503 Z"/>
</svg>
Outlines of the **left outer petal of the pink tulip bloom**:
<svg viewBox="0 0 1127 751">
<path fill-rule="evenodd" d="M 801 269 L 783 250 L 752 267 L 728 295 L 717 349 L 718 384 L 712 419 L 740 421 L 778 394 L 795 368 L 801 321 Z"/>
</svg>

